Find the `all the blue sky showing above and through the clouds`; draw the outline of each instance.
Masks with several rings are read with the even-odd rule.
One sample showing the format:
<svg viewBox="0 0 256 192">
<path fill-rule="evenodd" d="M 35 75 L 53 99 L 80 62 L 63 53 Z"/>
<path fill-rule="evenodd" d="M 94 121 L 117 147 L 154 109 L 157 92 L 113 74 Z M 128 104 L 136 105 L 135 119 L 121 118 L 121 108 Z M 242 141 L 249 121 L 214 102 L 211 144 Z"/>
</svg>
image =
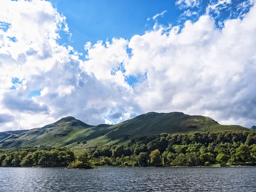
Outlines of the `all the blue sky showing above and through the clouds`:
<svg viewBox="0 0 256 192">
<path fill-rule="evenodd" d="M 197 6 L 186 6 L 186 1 L 181 1 L 177 5 L 175 0 L 124 0 L 124 1 L 105 1 L 100 0 L 95 3 L 93 0 L 49 0 L 52 6 L 58 9 L 66 17 L 69 32 L 60 32 L 61 38 L 58 40 L 59 44 L 65 46 L 72 46 L 78 52 L 83 53 L 80 58 L 83 60 L 87 52 L 84 50 L 84 42 L 97 41 L 105 42 L 112 38 L 130 39 L 134 35 L 143 35 L 145 31 L 152 30 L 154 24 L 157 22 L 161 25 L 168 26 L 183 26 L 186 20 L 195 22 L 201 15 L 206 14 L 206 8 L 209 3 L 218 3 L 218 1 L 204 0 Z M 193 0 L 192 0 L 193 2 Z M 196 2 L 196 1 L 195 1 Z M 198 1 L 199 2 L 199 1 Z M 219 13 L 212 11 L 212 17 L 215 17 L 217 28 L 222 26 L 218 24 L 220 21 L 228 18 L 237 17 L 237 6 L 244 1 L 233 0 L 229 6 L 220 7 Z M 245 12 L 249 10 L 252 5 L 248 6 Z M 184 15 L 183 13 L 189 10 L 194 13 L 192 15 Z M 154 15 L 164 12 L 155 20 Z M 129 52 L 129 50 L 128 50 Z M 131 86 L 134 86 L 138 78 L 134 76 L 127 76 L 126 81 Z M 40 90 L 40 89 L 38 89 Z M 32 91 L 29 97 L 40 95 L 40 91 Z"/>
</svg>

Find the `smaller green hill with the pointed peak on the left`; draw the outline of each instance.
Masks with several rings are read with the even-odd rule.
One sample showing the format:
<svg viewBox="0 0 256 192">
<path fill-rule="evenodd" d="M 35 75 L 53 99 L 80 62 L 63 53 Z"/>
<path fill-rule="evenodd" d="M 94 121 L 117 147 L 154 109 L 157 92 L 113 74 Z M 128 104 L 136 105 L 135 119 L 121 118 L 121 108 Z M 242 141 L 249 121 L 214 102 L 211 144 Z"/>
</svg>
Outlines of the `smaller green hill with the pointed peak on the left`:
<svg viewBox="0 0 256 192">
<path fill-rule="evenodd" d="M 52 145 L 68 147 L 83 140 L 92 140 L 106 134 L 111 125 L 87 125 L 74 117 L 68 116 L 42 128 L 34 128 L 15 137 L 0 138 L 0 148 Z M 4 133 L 4 132 L 2 132 Z"/>
</svg>

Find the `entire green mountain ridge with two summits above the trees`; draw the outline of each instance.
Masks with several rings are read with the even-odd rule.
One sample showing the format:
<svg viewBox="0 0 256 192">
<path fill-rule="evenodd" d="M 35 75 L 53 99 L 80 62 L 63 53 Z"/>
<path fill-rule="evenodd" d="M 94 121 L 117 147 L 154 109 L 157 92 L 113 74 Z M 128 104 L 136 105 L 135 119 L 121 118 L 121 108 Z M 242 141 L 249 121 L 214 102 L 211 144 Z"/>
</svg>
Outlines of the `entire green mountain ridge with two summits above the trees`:
<svg viewBox="0 0 256 192">
<path fill-rule="evenodd" d="M 0 132 L 0 148 L 52 145 L 67 147 L 76 151 L 86 148 L 124 143 L 134 137 L 151 136 L 160 133 L 177 134 L 195 131 L 219 132 L 227 130 L 248 130 L 239 125 L 220 125 L 206 116 L 190 116 L 181 112 L 149 112 L 120 122 L 116 125 L 87 125 L 68 116 L 55 123 L 32 130 Z M 82 143 L 82 141 L 86 143 Z"/>
</svg>

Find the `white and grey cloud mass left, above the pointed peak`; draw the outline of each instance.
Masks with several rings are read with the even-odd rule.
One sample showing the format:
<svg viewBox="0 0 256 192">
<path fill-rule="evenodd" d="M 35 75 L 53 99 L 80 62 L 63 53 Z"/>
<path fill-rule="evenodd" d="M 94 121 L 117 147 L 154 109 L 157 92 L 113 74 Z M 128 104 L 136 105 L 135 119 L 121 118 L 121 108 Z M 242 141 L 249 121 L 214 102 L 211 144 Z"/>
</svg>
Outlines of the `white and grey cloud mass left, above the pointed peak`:
<svg viewBox="0 0 256 192">
<path fill-rule="evenodd" d="M 58 31 L 69 33 L 68 26 L 47 1 L 0 2 L 0 21 L 10 24 L 8 30 L 0 29 L 1 112 L 14 119 L 1 123 L 2 131 L 40 127 L 67 115 L 104 123 L 103 114 L 113 106 L 118 110 L 131 97 L 132 89 L 118 69 L 128 58 L 126 40 L 87 47 L 87 59 L 81 61 L 73 47 L 56 42 Z M 23 81 L 10 90 L 14 77 Z M 33 90 L 41 90 L 40 95 L 27 99 Z"/>
</svg>

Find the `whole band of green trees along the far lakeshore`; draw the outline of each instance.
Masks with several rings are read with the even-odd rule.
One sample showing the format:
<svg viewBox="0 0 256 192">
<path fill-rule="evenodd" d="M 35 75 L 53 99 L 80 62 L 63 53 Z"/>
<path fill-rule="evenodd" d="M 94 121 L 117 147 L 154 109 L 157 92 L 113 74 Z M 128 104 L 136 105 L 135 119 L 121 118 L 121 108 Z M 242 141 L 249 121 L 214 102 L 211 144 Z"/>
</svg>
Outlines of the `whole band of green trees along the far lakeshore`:
<svg viewBox="0 0 256 192">
<path fill-rule="evenodd" d="M 94 166 L 255 165 L 256 131 L 159 134 L 122 145 L 88 148 L 77 157 L 67 148 L 41 145 L 0 150 L 0 166 L 93 168 Z"/>
</svg>

